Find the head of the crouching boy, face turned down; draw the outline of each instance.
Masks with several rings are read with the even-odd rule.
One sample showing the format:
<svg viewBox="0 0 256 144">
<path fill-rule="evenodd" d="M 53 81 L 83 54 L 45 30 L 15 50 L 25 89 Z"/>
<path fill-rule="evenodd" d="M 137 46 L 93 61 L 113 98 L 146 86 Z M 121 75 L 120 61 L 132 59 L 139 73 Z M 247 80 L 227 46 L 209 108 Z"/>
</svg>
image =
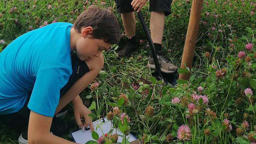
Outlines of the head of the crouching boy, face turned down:
<svg viewBox="0 0 256 144">
<path fill-rule="evenodd" d="M 80 60 L 99 57 L 103 50 L 120 41 L 120 26 L 114 14 L 104 8 L 90 6 L 81 13 L 72 28 L 78 33 L 76 53 Z"/>
</svg>

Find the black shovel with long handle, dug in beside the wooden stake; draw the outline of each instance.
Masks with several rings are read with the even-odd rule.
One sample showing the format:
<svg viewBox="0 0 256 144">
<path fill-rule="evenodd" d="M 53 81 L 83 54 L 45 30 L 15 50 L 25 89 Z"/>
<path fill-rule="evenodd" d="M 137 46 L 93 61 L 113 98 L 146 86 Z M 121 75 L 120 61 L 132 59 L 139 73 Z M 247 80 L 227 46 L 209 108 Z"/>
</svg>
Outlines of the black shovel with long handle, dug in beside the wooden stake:
<svg viewBox="0 0 256 144">
<path fill-rule="evenodd" d="M 156 67 L 156 69 L 155 69 L 156 72 L 153 72 L 152 76 L 155 77 L 158 81 L 162 80 L 166 84 L 170 83 L 172 86 L 175 86 L 177 84 L 176 78 L 172 74 L 166 74 L 166 73 L 161 72 L 160 66 L 159 66 L 159 63 L 158 63 L 158 58 L 157 58 L 157 55 L 156 55 L 156 50 L 155 50 L 153 41 L 152 41 L 151 36 L 149 34 L 149 31 L 148 31 L 148 27 L 147 27 L 147 25 L 144 21 L 144 18 L 142 16 L 141 11 L 138 12 L 138 15 L 139 15 L 139 19 L 140 19 L 141 25 L 143 27 L 143 30 L 144 30 L 144 32 L 147 36 L 147 39 L 148 39 L 148 42 L 149 42 L 149 45 L 150 45 L 150 48 L 151 48 L 151 51 L 152 51 L 155 67 Z"/>
</svg>

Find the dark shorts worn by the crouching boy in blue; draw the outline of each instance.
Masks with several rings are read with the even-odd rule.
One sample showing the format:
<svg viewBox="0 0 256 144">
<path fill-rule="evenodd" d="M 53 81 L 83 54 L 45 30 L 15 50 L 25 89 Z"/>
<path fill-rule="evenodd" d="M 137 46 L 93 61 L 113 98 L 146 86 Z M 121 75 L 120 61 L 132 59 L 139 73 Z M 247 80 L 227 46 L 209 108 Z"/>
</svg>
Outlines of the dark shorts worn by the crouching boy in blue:
<svg viewBox="0 0 256 144">
<path fill-rule="evenodd" d="M 85 61 L 81 61 L 76 54 L 71 55 L 72 59 L 72 74 L 69 77 L 67 84 L 60 90 L 60 97 L 62 97 L 73 85 L 74 83 L 81 78 L 85 73 L 89 72 L 89 67 Z M 0 122 L 12 127 L 17 127 L 15 124 L 18 124 L 18 127 L 21 127 L 25 130 L 28 126 L 28 120 L 30 115 L 30 109 L 28 108 L 28 102 L 30 99 L 32 91 L 28 93 L 28 98 L 24 106 L 15 113 L 0 115 Z M 18 123 L 17 123 L 18 122 Z"/>
</svg>

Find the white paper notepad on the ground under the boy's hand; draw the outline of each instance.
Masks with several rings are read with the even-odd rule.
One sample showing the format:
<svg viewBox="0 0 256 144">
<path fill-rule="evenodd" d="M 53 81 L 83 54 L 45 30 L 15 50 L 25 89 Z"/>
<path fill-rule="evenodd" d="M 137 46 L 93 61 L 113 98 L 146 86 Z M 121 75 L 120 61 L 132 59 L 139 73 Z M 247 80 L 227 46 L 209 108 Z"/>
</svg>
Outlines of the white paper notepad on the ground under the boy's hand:
<svg viewBox="0 0 256 144">
<path fill-rule="evenodd" d="M 101 129 L 103 130 L 104 134 L 108 133 L 113 128 L 112 122 L 107 120 L 106 118 L 102 118 L 102 119 L 99 119 L 99 120 L 93 122 L 94 131 L 98 133 L 99 137 L 102 136 L 103 133 L 102 133 L 100 128 L 97 128 L 97 130 L 96 130 L 96 127 L 97 127 L 97 125 L 99 125 L 101 122 L 104 122 L 104 121 L 105 121 L 105 123 L 103 123 L 100 126 Z M 118 141 L 117 142 L 122 142 L 123 134 L 121 133 L 121 131 L 119 129 L 114 129 L 112 134 L 115 134 L 115 133 L 118 134 Z M 71 133 L 71 136 L 72 136 L 73 140 L 76 143 L 79 143 L 79 144 L 85 144 L 89 140 L 94 140 L 92 138 L 92 132 L 89 129 L 89 126 L 86 127 L 86 129 L 83 130 L 83 131 L 82 131 L 82 129 L 80 129 L 76 132 Z M 126 139 L 129 142 L 137 140 L 137 138 L 131 133 L 129 133 L 129 135 L 126 136 Z"/>
</svg>

